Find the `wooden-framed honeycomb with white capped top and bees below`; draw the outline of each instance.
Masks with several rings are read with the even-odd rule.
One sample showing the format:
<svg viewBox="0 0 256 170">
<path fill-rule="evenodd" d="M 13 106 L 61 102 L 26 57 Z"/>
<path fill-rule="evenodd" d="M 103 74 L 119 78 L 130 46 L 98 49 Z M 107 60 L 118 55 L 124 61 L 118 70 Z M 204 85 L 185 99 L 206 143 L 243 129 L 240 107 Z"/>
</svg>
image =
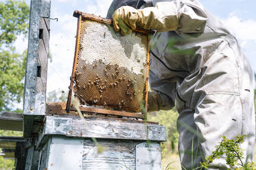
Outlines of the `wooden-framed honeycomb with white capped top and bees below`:
<svg viewBox="0 0 256 170">
<path fill-rule="evenodd" d="M 83 105 L 145 112 L 148 95 L 148 32 L 126 36 L 111 21 L 75 12 L 78 34 L 71 89 Z"/>
</svg>

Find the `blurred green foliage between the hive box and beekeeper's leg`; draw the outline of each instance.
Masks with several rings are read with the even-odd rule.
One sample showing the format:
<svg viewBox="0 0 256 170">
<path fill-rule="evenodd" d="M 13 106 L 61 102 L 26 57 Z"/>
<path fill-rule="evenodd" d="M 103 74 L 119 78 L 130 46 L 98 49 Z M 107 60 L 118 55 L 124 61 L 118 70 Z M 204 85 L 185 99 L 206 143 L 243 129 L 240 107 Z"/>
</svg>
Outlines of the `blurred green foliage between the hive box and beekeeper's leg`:
<svg viewBox="0 0 256 170">
<path fill-rule="evenodd" d="M 159 112 L 149 113 L 148 121 L 159 122 L 159 124 L 166 127 L 167 141 L 161 144 L 163 156 L 176 151 L 176 145 L 178 143 L 177 118 L 178 112 L 176 110 L 161 110 Z"/>
</svg>

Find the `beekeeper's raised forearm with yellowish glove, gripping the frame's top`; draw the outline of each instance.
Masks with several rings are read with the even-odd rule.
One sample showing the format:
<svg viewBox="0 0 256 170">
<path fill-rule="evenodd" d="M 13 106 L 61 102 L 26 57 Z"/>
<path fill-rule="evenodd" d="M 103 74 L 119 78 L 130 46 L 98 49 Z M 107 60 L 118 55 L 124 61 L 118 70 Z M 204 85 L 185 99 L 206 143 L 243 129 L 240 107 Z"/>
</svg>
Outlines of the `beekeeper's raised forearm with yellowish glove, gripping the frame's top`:
<svg viewBox="0 0 256 170">
<path fill-rule="evenodd" d="M 186 0 L 159 2 L 143 10 L 122 6 L 113 14 L 114 28 L 123 35 L 137 27 L 158 32 L 202 33 L 206 23 L 207 15 L 202 7 Z"/>
</svg>

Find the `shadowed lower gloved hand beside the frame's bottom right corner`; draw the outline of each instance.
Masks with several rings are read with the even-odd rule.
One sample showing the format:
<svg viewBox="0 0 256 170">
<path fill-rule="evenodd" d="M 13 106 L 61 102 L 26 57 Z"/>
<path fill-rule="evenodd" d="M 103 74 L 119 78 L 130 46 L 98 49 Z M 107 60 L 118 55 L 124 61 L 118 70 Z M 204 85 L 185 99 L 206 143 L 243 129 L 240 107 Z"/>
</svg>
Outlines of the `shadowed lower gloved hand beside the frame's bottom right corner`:
<svg viewBox="0 0 256 170">
<path fill-rule="evenodd" d="M 161 110 L 161 97 L 156 91 L 148 92 L 148 112 Z"/>
</svg>

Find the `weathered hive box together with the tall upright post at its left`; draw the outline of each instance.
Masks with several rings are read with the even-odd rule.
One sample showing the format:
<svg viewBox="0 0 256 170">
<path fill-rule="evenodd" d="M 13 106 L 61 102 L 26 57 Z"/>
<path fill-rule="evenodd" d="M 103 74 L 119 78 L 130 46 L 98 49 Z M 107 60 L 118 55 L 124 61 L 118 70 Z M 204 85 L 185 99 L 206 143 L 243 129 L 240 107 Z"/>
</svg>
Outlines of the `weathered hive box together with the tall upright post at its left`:
<svg viewBox="0 0 256 170">
<path fill-rule="evenodd" d="M 65 103 L 46 105 L 50 7 L 49 0 L 30 5 L 24 138 L 16 139 L 16 169 L 160 170 L 163 125 L 92 112 L 80 119 L 77 112 L 67 114 Z"/>
</svg>

